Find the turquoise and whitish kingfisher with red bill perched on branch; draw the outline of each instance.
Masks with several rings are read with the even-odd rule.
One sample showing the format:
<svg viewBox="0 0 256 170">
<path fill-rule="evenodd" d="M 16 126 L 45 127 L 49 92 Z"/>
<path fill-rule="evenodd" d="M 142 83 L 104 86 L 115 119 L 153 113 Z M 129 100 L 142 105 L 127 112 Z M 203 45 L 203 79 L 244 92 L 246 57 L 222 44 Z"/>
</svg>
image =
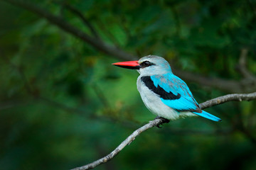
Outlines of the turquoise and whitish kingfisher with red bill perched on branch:
<svg viewBox="0 0 256 170">
<path fill-rule="evenodd" d="M 152 113 L 167 120 L 200 115 L 221 121 L 215 115 L 202 111 L 187 84 L 171 72 L 169 62 L 163 57 L 148 55 L 139 61 L 117 62 L 115 66 L 137 69 L 137 89 L 142 101 Z"/>
</svg>

